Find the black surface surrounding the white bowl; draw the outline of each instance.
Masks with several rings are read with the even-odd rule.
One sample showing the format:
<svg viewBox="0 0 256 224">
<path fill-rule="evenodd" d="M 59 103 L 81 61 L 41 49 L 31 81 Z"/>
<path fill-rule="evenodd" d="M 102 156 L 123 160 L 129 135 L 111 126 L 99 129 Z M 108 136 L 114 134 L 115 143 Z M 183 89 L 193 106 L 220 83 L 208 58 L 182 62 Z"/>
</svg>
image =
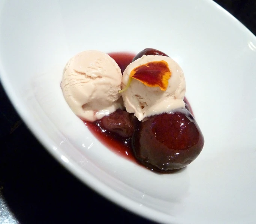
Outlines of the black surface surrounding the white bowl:
<svg viewBox="0 0 256 224">
<path fill-rule="evenodd" d="M 256 1 L 216 2 L 256 34 Z M 69 174 L 28 131 L 0 86 L 0 224 L 105 222 L 153 224 Z"/>
</svg>

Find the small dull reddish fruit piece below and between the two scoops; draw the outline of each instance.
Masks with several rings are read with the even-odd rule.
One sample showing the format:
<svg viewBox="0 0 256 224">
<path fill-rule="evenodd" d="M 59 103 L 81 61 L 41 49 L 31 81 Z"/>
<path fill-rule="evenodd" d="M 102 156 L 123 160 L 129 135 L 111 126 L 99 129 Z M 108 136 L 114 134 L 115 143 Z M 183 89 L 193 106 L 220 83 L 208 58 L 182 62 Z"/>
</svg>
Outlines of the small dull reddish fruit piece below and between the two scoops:
<svg viewBox="0 0 256 224">
<path fill-rule="evenodd" d="M 133 135 L 138 119 L 133 114 L 118 109 L 114 113 L 103 117 L 101 122 L 108 131 L 129 138 Z"/>
</svg>

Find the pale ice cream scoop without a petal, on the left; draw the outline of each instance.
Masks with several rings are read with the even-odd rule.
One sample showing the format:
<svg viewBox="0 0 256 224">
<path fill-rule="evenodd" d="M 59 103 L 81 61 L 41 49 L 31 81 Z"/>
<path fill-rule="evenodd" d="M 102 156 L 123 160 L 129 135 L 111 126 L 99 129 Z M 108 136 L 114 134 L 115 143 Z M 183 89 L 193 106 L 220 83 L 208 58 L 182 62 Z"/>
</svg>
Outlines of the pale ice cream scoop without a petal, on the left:
<svg viewBox="0 0 256 224">
<path fill-rule="evenodd" d="M 121 80 L 121 70 L 114 59 L 106 53 L 87 50 L 67 62 L 61 89 L 72 111 L 93 122 L 123 108 Z"/>
</svg>

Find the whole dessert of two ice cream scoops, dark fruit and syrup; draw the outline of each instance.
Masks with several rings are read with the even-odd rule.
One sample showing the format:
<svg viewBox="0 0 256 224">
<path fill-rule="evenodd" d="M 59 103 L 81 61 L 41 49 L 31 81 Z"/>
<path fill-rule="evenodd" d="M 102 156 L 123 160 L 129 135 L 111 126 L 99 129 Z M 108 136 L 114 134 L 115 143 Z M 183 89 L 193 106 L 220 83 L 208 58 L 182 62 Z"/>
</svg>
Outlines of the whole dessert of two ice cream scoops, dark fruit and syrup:
<svg viewBox="0 0 256 224">
<path fill-rule="evenodd" d="M 129 151 L 153 171 L 189 165 L 204 137 L 184 99 L 181 67 L 153 48 L 130 61 L 111 55 L 87 50 L 67 62 L 61 89 L 72 111 L 99 132 L 95 136 L 101 133 L 103 143 L 115 141 L 111 148 L 127 156 Z"/>
</svg>

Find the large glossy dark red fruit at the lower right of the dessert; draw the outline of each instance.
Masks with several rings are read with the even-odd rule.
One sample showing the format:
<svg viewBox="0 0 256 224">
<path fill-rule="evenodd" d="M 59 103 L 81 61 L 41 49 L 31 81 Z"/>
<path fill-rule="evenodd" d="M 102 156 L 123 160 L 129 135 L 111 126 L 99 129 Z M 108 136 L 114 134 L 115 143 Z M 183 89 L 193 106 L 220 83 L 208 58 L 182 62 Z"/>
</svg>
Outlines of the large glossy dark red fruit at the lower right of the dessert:
<svg viewBox="0 0 256 224">
<path fill-rule="evenodd" d="M 189 165 L 204 146 L 204 136 L 186 109 L 145 118 L 132 138 L 133 153 L 142 165 L 168 172 Z"/>
</svg>

